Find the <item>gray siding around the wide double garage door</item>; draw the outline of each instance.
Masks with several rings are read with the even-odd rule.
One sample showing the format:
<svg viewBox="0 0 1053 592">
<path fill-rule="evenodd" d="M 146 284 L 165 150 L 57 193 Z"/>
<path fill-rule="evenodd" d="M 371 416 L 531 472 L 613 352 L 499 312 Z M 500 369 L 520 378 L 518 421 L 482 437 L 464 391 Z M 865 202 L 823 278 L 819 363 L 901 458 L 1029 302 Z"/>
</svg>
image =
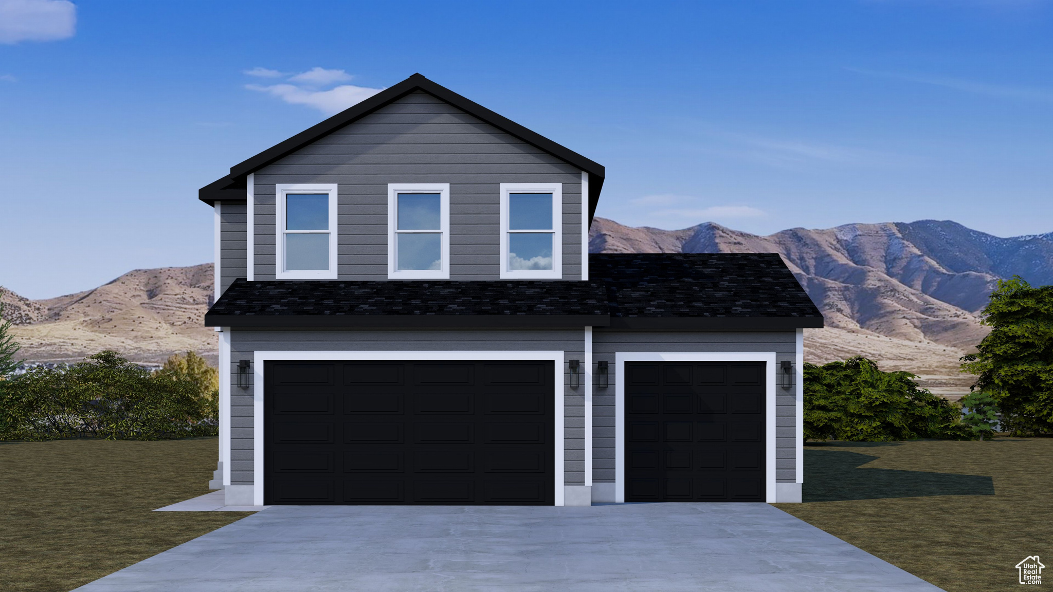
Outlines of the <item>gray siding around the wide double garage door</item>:
<svg viewBox="0 0 1053 592">
<path fill-rule="evenodd" d="M 570 388 L 569 359 L 582 359 L 583 331 L 247 331 L 231 335 L 231 482 L 253 484 L 253 391 L 237 388 L 237 364 L 255 351 L 561 350 L 564 484 L 584 485 L 584 395 Z"/>
</svg>

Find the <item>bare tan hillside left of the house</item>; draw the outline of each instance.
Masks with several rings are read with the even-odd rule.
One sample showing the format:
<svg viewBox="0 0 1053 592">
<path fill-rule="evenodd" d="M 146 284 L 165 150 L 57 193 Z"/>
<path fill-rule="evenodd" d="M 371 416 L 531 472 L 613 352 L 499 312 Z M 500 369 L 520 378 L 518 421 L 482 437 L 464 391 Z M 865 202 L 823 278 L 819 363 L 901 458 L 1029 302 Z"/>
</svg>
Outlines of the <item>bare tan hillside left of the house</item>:
<svg viewBox="0 0 1053 592">
<path fill-rule="evenodd" d="M 104 349 L 135 361 L 195 350 L 216 361 L 216 333 L 202 327 L 212 263 L 135 270 L 86 292 L 27 300 L 0 289 L 4 317 L 29 361 L 76 361 Z"/>
</svg>

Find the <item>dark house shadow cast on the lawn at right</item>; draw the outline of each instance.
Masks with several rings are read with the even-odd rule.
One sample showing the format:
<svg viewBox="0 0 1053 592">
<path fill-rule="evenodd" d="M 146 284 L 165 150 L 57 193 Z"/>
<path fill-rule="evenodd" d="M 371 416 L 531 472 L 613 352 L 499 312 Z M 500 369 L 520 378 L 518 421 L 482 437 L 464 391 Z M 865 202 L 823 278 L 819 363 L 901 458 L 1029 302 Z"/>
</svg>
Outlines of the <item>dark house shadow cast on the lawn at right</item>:
<svg viewBox="0 0 1053 592">
<path fill-rule="evenodd" d="M 994 495 L 994 480 L 982 475 L 860 467 L 876 458 L 858 452 L 806 450 L 803 500 Z"/>
</svg>

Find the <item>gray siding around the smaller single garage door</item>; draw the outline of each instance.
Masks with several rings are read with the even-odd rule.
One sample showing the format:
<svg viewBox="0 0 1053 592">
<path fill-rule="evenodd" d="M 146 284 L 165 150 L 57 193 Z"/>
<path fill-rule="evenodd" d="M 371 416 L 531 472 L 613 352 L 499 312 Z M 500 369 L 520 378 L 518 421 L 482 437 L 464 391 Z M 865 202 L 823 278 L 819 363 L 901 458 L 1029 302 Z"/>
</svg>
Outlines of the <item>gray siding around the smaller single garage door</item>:
<svg viewBox="0 0 1053 592">
<path fill-rule="evenodd" d="M 643 333 L 613 332 L 596 329 L 593 333 L 593 360 L 607 360 L 609 387 L 593 391 L 593 481 L 614 482 L 614 389 L 616 352 L 775 352 L 776 363 L 796 363 L 796 333 Z M 796 397 L 775 397 L 775 478 L 779 482 L 796 480 Z"/>
</svg>

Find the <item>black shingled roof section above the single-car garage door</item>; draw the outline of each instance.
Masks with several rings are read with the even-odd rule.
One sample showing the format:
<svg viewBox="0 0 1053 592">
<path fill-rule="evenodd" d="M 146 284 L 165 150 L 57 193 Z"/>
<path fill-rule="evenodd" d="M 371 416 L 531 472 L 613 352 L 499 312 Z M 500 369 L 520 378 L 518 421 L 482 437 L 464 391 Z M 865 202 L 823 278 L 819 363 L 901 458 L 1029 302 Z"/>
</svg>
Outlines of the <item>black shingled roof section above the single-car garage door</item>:
<svg viewBox="0 0 1053 592">
<path fill-rule="evenodd" d="M 776 253 L 590 255 L 589 276 L 607 287 L 612 325 L 714 319 L 702 324 L 717 329 L 717 319 L 790 318 L 800 319 L 797 328 L 822 327 L 822 313 Z"/>
</svg>

